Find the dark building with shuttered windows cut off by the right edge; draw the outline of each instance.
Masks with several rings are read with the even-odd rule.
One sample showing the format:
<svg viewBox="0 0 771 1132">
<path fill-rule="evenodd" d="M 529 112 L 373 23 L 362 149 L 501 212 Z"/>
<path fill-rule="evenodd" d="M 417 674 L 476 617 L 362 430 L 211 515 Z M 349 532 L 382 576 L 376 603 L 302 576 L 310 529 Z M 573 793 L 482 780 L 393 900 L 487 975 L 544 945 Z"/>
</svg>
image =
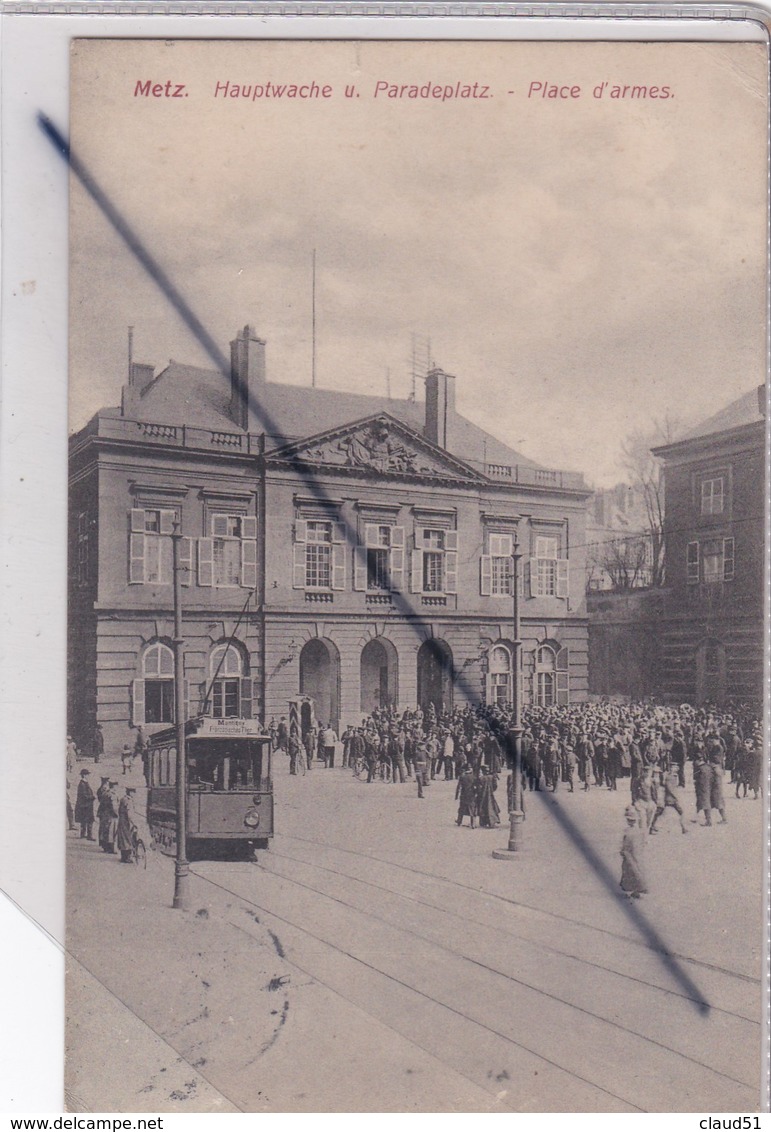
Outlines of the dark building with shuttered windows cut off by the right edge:
<svg viewBox="0 0 771 1132">
<path fill-rule="evenodd" d="M 761 386 L 653 449 L 665 462 L 660 691 L 678 700 L 762 697 L 765 405 Z"/>
</svg>

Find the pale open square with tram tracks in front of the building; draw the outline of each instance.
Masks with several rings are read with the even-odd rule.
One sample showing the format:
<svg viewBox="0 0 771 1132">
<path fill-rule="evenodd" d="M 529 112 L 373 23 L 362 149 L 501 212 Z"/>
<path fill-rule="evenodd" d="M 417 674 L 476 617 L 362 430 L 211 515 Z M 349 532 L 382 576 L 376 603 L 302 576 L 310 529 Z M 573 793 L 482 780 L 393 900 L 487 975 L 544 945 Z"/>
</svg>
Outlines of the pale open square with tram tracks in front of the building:
<svg viewBox="0 0 771 1132">
<path fill-rule="evenodd" d="M 143 873 L 70 833 L 72 1104 L 757 1109 L 763 803 L 729 789 L 705 829 L 688 787 L 687 837 L 665 815 L 627 903 L 620 787 L 528 795 L 522 855 L 498 861 L 506 830 L 459 829 L 454 783 L 420 800 L 280 756 L 271 849 L 195 864 L 189 912 L 171 860 Z"/>
</svg>

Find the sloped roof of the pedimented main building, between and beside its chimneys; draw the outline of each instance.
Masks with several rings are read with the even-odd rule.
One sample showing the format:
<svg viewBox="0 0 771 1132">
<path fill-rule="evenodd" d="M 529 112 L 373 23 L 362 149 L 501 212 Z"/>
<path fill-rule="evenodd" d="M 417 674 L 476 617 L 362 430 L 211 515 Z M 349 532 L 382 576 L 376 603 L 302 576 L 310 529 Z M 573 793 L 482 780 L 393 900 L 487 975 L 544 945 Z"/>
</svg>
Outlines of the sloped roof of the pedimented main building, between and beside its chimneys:
<svg viewBox="0 0 771 1132">
<path fill-rule="evenodd" d="M 316 436 L 379 412 L 389 413 L 416 432 L 425 429 L 422 401 L 274 381 L 266 381 L 260 389 L 264 431 L 273 441 L 268 447 Z M 140 405 L 142 419 L 154 423 L 240 431 L 229 414 L 230 376 L 215 370 L 170 361 L 144 391 Z M 480 470 L 486 463 L 542 466 L 459 413 L 454 414 L 452 432 L 452 453 Z"/>
</svg>

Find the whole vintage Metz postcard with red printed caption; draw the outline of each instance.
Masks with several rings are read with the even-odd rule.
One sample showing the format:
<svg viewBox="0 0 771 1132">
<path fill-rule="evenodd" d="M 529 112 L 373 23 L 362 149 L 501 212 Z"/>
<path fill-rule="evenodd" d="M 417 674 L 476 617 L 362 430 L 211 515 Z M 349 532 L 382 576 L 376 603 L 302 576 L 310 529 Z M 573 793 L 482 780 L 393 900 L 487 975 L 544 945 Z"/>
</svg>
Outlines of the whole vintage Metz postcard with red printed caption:
<svg viewBox="0 0 771 1132">
<path fill-rule="evenodd" d="M 760 1126 L 766 78 L 72 41 L 71 1110 Z"/>
</svg>

